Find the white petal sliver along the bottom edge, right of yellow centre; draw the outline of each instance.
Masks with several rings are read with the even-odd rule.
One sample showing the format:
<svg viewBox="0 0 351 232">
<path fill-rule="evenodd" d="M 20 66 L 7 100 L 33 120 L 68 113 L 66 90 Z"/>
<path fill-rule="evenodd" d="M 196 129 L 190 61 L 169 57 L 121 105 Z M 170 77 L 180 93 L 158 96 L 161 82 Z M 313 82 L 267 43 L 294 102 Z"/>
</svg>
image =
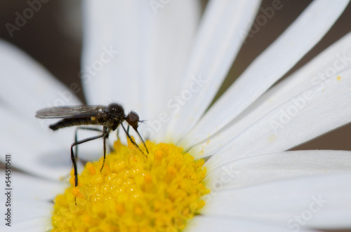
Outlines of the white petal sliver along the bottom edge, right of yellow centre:
<svg viewBox="0 0 351 232">
<path fill-rule="evenodd" d="M 249 219 L 239 219 L 232 217 L 209 217 L 197 216 L 189 222 L 184 231 L 189 232 L 232 232 L 232 231 L 291 231 L 286 226 L 277 226 L 274 224 L 267 224 L 264 221 L 253 221 Z M 300 230 L 310 231 L 310 230 Z"/>
</svg>

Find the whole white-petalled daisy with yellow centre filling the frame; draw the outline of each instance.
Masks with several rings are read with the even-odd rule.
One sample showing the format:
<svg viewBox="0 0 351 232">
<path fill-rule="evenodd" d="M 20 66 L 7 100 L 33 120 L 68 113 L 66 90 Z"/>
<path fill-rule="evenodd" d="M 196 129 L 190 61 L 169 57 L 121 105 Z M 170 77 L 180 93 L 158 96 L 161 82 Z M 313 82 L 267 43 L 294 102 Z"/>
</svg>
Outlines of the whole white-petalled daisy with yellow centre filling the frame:
<svg viewBox="0 0 351 232">
<path fill-rule="evenodd" d="M 252 22 L 262 26 L 280 1 L 257 18 L 259 1 L 209 1 L 202 15 L 197 1 L 85 1 L 86 101 L 120 102 L 147 119 L 140 132 L 150 154 L 123 145 L 119 135 L 106 167 L 100 172 L 101 163 L 87 163 L 79 176 L 92 189 L 70 186 L 56 198 L 69 186 L 62 178 L 74 128 L 52 133 L 34 114 L 81 104 L 73 94 L 79 86 L 68 89 L 1 41 L 1 162 L 10 158 L 18 169 L 10 199 L 2 196 L 11 202 L 11 219 L 1 230 L 351 228 L 350 151 L 287 151 L 350 123 L 351 34 L 277 83 L 347 4 L 313 1 L 209 107 Z M 85 135 L 91 133 L 79 132 Z M 101 141 L 84 144 L 79 156 L 91 161 L 101 150 Z M 100 205 L 85 207 L 91 202 Z"/>
</svg>

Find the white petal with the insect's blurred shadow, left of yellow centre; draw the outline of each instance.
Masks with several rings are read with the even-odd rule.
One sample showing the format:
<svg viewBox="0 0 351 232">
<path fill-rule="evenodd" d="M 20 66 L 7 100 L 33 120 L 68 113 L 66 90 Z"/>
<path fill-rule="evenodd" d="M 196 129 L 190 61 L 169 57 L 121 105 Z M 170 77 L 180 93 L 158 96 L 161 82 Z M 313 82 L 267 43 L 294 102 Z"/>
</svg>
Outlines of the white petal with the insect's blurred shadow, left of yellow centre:
<svg viewBox="0 0 351 232">
<path fill-rule="evenodd" d="M 23 121 L 18 114 L 0 108 L 0 152 L 11 154 L 11 165 L 39 177 L 59 179 L 71 168 L 69 144 L 62 147 L 53 136 L 44 136 L 38 126 Z M 73 134 L 72 134 L 73 137 Z M 1 162 L 5 162 L 4 159 Z"/>
</svg>

